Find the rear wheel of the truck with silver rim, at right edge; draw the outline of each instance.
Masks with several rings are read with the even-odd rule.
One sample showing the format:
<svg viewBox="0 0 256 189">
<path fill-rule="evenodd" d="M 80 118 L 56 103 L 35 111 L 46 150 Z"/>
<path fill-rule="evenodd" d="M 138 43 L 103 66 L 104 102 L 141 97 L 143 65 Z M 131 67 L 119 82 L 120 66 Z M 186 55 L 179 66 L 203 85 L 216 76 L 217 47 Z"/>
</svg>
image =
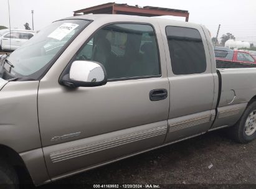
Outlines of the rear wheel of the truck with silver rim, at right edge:
<svg viewBox="0 0 256 189">
<path fill-rule="evenodd" d="M 247 106 L 242 117 L 230 129 L 237 142 L 247 143 L 256 138 L 256 101 Z"/>
</svg>

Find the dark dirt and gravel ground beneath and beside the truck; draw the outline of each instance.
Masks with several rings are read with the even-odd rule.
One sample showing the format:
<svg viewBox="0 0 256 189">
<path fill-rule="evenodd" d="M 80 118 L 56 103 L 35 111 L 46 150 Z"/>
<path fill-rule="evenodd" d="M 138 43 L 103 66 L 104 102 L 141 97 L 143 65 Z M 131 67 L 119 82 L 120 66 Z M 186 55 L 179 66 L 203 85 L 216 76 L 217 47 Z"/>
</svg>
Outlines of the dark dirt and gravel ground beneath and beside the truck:
<svg viewBox="0 0 256 189">
<path fill-rule="evenodd" d="M 246 188 L 256 188 L 255 149 L 256 141 L 245 145 L 237 144 L 220 130 L 64 178 L 38 189 L 60 185 L 68 188 L 92 188 L 88 184 L 99 183 L 151 183 L 160 184 L 161 188 L 169 188 L 170 185 L 164 184 L 198 188 L 198 185 L 184 185 L 185 183 L 200 183 L 201 187 L 207 185 L 202 188 L 209 188 L 213 186 L 211 184 L 254 184 L 247 185 Z M 211 164 L 213 167 L 209 169 Z M 222 185 L 217 185 L 217 188 L 225 188 L 220 186 Z M 245 185 L 232 185 L 231 188 L 245 188 Z"/>
</svg>

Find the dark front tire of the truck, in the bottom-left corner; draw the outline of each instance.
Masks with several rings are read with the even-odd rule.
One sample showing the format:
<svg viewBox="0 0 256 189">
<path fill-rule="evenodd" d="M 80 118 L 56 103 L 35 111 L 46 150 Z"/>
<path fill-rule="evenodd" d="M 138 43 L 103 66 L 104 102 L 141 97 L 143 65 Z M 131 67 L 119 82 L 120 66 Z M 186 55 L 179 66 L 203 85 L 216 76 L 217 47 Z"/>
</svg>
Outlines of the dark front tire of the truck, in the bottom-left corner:
<svg viewBox="0 0 256 189">
<path fill-rule="evenodd" d="M 0 159 L 0 186 L 4 189 L 19 188 L 19 178 L 14 168 Z"/>
</svg>

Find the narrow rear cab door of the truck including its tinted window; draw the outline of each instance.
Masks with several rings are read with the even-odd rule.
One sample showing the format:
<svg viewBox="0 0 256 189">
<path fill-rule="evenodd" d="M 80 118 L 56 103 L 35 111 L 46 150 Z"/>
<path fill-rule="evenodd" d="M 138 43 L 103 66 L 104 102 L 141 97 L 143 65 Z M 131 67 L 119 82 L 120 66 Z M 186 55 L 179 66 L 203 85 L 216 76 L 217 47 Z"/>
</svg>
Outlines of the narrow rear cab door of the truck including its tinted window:
<svg viewBox="0 0 256 189">
<path fill-rule="evenodd" d="M 168 23 L 169 24 L 169 23 Z M 214 120 L 214 77 L 200 25 L 161 25 L 170 84 L 166 142 L 206 132 Z"/>
</svg>

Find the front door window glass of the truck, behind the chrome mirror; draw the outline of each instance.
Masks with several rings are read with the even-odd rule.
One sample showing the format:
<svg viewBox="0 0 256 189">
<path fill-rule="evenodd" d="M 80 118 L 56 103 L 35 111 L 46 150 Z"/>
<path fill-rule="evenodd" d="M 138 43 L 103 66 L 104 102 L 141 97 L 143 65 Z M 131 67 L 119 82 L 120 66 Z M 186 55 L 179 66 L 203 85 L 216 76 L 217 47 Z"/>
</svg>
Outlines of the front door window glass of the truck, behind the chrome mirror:
<svg viewBox="0 0 256 189">
<path fill-rule="evenodd" d="M 98 30 L 75 60 L 102 63 L 108 79 L 160 76 L 154 29 L 146 24 L 111 24 Z"/>
</svg>

